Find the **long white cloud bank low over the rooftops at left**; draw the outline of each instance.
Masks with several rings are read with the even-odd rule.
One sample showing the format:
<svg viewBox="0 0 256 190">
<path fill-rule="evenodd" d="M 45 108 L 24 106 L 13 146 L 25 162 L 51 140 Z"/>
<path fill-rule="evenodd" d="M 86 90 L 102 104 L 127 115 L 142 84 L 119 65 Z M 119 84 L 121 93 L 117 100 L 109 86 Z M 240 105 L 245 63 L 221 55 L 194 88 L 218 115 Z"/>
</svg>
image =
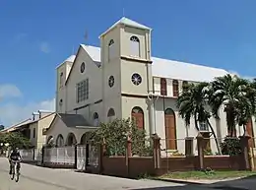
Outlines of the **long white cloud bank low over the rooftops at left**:
<svg viewBox="0 0 256 190">
<path fill-rule="evenodd" d="M 37 110 L 55 111 L 55 98 L 40 102 L 30 102 L 26 105 L 5 103 L 0 106 L 0 124 L 10 126 L 24 119 L 31 118 Z"/>
</svg>

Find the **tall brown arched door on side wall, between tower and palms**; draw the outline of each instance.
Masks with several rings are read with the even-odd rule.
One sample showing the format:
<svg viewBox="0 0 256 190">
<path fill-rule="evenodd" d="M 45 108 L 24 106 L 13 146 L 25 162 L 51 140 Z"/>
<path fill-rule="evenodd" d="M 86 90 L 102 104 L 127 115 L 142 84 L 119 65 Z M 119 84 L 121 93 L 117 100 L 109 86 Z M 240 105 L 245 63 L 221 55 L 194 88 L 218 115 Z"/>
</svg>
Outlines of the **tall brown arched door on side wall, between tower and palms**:
<svg viewBox="0 0 256 190">
<path fill-rule="evenodd" d="M 166 150 L 176 150 L 176 121 L 175 113 L 171 108 L 164 111 Z"/>
</svg>

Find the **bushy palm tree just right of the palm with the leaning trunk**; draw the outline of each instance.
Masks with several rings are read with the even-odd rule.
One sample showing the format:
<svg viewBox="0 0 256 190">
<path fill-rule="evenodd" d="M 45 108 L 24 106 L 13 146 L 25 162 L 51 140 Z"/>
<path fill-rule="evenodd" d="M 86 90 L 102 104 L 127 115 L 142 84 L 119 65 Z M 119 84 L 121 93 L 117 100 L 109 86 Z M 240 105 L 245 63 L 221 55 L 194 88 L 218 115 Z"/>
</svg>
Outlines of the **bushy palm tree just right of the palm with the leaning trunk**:
<svg viewBox="0 0 256 190">
<path fill-rule="evenodd" d="M 248 81 L 229 74 L 218 77 L 211 83 L 210 104 L 215 117 L 219 117 L 219 109 L 224 104 L 227 130 L 230 136 L 235 136 L 235 125 L 243 123 L 242 117 L 248 116 L 250 107 L 248 98 Z M 241 111 L 244 109 L 243 111 Z"/>
</svg>

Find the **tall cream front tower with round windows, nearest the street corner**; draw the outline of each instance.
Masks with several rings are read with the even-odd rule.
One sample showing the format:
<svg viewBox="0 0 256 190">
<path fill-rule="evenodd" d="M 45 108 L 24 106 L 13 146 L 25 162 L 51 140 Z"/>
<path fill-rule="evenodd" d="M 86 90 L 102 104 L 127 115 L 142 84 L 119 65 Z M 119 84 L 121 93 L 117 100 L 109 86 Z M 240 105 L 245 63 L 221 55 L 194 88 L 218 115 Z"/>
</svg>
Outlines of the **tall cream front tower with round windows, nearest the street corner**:
<svg viewBox="0 0 256 190">
<path fill-rule="evenodd" d="M 111 115 L 118 118 L 140 115 L 139 127 L 146 130 L 149 127 L 147 99 L 153 91 L 151 31 L 122 18 L 100 35 L 106 121 Z M 136 113 L 141 114 L 133 114 L 135 107 Z"/>
</svg>

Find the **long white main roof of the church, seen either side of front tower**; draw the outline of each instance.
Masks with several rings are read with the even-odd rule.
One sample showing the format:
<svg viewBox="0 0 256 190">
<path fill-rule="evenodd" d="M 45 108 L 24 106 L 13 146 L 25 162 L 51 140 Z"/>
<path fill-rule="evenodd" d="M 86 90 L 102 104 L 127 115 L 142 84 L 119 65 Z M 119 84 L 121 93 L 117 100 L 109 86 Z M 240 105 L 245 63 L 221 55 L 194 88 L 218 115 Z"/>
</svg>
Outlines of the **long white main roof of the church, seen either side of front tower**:
<svg viewBox="0 0 256 190">
<path fill-rule="evenodd" d="M 84 49 L 95 61 L 100 61 L 100 48 L 95 46 L 83 45 Z M 226 75 L 228 72 L 224 69 L 184 63 L 152 57 L 152 74 L 154 77 L 163 77 L 168 79 L 177 79 L 193 82 L 209 82 L 215 77 Z"/>
</svg>

